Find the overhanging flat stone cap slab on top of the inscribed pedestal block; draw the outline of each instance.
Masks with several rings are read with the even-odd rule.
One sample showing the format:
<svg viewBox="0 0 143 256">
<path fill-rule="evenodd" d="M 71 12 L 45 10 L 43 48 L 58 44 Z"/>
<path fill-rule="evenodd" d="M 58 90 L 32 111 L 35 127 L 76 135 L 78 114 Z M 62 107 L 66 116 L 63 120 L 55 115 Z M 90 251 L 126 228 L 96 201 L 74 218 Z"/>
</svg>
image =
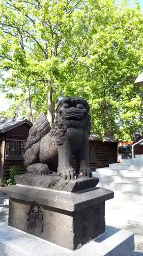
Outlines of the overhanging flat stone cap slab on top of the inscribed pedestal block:
<svg viewBox="0 0 143 256">
<path fill-rule="evenodd" d="M 3 188 L 10 198 L 63 209 L 78 211 L 113 198 L 113 192 L 105 188 L 95 187 L 81 193 L 68 193 L 52 189 L 36 188 L 23 185 L 12 185 Z"/>
</svg>

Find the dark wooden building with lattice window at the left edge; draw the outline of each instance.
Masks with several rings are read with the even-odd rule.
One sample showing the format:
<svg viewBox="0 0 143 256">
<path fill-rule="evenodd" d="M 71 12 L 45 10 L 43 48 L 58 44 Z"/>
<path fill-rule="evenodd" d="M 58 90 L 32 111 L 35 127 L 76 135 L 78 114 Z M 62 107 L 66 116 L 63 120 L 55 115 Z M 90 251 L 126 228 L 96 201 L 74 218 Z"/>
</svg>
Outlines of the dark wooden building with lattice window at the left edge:
<svg viewBox="0 0 143 256">
<path fill-rule="evenodd" d="M 33 124 L 24 119 L 0 118 L 0 180 L 9 177 L 11 166 L 19 166 L 20 173 L 25 172 L 23 165 L 24 146 L 28 132 Z"/>
</svg>

